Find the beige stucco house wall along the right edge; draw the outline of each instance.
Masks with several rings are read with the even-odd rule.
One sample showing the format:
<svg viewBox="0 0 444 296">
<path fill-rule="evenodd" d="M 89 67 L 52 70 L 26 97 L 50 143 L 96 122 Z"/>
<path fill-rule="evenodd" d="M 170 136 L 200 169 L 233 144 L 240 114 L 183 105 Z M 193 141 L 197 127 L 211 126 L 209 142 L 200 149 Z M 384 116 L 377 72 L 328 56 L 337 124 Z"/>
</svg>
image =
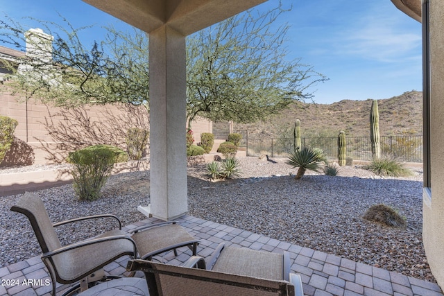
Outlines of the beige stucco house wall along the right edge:
<svg viewBox="0 0 444 296">
<path fill-rule="evenodd" d="M 427 261 L 438 284 L 444 287 L 444 2 L 430 3 L 430 161 L 431 194 L 424 191 L 423 229 Z"/>
</svg>

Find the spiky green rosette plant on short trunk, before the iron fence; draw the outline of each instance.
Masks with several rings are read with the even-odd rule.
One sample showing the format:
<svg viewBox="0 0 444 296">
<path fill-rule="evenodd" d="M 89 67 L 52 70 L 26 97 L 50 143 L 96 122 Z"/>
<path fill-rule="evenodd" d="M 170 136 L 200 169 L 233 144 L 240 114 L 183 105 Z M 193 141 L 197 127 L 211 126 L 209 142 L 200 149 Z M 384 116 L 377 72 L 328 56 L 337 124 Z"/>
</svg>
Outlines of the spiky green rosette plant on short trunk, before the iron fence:
<svg viewBox="0 0 444 296">
<path fill-rule="evenodd" d="M 296 174 L 295 179 L 299 180 L 307 170 L 318 173 L 321 172 L 325 165 L 324 162 L 320 161 L 321 155 L 323 155 L 323 150 L 314 150 L 307 147 L 291 153 L 287 160 L 287 164 L 293 166 L 293 168 L 298 168 L 298 173 Z"/>
</svg>

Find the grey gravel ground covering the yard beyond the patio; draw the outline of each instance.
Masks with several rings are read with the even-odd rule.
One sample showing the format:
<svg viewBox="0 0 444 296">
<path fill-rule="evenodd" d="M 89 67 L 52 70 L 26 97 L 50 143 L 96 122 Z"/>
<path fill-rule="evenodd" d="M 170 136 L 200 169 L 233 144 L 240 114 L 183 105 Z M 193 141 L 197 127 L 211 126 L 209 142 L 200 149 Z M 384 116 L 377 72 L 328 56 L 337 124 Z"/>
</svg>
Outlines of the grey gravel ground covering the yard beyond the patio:
<svg viewBox="0 0 444 296">
<path fill-rule="evenodd" d="M 422 168 L 412 168 L 412 177 L 383 178 L 347 166 L 336 177 L 307 171 L 296 181 L 297 169 L 285 164 L 285 159 L 239 160 L 243 175 L 234 180 L 210 182 L 205 166 L 188 169 L 190 215 L 436 282 L 422 247 Z M 94 202 L 76 200 L 70 184 L 37 194 L 53 222 L 111 213 L 128 225 L 144 219 L 137 206 L 149 202 L 149 171 L 110 177 L 102 198 Z M 9 211 L 17 198 L 0 199 L 1 266 L 40 254 L 27 219 Z M 379 203 L 398 209 L 407 218 L 407 229 L 361 218 L 368 207 Z M 106 219 L 100 225 L 115 227 Z M 95 227 L 76 223 L 61 228 L 62 243 L 85 238 L 80 230 L 99 233 L 92 230 Z"/>
</svg>

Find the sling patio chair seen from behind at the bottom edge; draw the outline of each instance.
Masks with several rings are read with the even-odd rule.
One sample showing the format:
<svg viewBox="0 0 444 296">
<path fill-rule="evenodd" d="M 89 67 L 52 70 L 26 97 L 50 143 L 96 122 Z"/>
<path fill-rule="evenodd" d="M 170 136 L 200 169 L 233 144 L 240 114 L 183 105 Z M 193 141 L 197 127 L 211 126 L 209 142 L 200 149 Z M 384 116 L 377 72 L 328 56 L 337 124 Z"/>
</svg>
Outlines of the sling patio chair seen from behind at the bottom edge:
<svg viewBox="0 0 444 296">
<path fill-rule="evenodd" d="M 214 265 L 208 266 L 212 270 L 206 269 L 200 256 L 191 256 L 182 266 L 135 259 L 126 269 L 144 272 L 151 296 L 303 296 L 300 275 L 285 275 L 286 257 L 219 245 L 210 260 L 215 260 Z"/>
</svg>

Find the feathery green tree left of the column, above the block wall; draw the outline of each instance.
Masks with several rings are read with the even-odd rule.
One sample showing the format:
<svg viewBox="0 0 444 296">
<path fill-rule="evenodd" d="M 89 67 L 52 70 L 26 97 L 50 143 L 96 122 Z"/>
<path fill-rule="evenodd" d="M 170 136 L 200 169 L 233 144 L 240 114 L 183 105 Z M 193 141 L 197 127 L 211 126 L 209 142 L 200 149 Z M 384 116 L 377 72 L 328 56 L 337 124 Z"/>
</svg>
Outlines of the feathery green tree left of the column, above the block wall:
<svg viewBox="0 0 444 296">
<path fill-rule="evenodd" d="M 67 19 L 66 27 L 39 21 L 53 36 L 48 48 L 42 38 L 29 38 L 28 29 L 17 21 L 5 19 L 0 21 L 1 42 L 24 50 L 28 39 L 28 46 L 43 53 L 5 62 L 13 73 L 13 92 L 60 107 L 148 102 L 148 41 L 141 31 L 123 33 L 109 27 L 105 40 L 89 47 L 79 37 L 89 27 L 74 28 Z M 42 58 L 48 55 L 51 59 Z"/>
</svg>

